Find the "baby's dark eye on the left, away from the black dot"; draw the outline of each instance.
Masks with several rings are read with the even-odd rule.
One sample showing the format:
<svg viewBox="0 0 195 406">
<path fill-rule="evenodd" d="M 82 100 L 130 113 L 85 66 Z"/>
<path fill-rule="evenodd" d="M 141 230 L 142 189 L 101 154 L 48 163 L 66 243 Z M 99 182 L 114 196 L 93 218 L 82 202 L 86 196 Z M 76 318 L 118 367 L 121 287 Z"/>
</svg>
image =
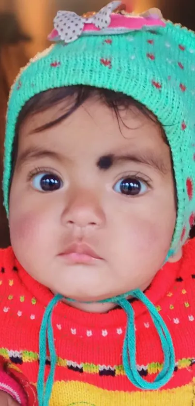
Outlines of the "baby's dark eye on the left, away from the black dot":
<svg viewBox="0 0 195 406">
<path fill-rule="evenodd" d="M 59 176 L 53 173 L 39 173 L 33 177 L 32 186 L 42 192 L 53 192 L 60 189 L 63 184 Z"/>
</svg>

